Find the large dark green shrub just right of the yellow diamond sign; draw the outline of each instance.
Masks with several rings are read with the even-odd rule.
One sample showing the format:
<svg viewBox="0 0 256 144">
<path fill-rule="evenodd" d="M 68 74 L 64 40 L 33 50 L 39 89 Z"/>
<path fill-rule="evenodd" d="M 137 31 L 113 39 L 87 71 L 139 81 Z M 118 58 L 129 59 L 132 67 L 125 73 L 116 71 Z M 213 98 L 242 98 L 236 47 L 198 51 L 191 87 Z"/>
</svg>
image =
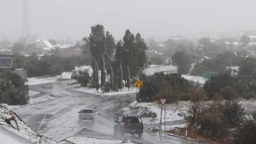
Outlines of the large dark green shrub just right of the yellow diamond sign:
<svg viewBox="0 0 256 144">
<path fill-rule="evenodd" d="M 143 86 L 137 93 L 137 102 L 154 102 L 158 98 L 167 98 L 167 103 L 188 100 L 189 93 L 197 88 L 180 74 L 159 72 L 153 76 L 142 75 L 140 79 Z"/>
</svg>

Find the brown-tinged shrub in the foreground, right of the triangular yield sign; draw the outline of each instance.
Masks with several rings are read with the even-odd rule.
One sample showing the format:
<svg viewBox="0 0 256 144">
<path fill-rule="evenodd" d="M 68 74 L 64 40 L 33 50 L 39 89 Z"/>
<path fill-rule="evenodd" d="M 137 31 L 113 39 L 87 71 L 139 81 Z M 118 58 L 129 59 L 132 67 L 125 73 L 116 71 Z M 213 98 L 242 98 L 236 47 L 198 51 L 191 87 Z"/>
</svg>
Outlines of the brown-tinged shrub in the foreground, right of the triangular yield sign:
<svg viewBox="0 0 256 144">
<path fill-rule="evenodd" d="M 237 128 L 244 119 L 244 108 L 238 102 L 225 103 L 193 102 L 189 115 L 185 116 L 191 127 L 198 130 L 203 136 L 218 138 L 227 141 L 231 135 L 230 129 Z"/>
</svg>

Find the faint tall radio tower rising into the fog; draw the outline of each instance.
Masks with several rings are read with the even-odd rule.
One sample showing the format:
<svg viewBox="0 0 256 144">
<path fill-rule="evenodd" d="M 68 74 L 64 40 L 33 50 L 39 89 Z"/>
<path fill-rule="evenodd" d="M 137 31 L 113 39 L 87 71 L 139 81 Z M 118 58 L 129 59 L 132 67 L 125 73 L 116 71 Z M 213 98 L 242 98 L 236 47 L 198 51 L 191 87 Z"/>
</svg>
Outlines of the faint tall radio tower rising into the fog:
<svg viewBox="0 0 256 144">
<path fill-rule="evenodd" d="M 21 31 L 21 41 L 26 42 L 27 34 L 29 33 L 28 29 L 28 20 L 27 20 L 27 1 L 23 0 L 23 24 L 22 24 L 22 31 Z"/>
</svg>

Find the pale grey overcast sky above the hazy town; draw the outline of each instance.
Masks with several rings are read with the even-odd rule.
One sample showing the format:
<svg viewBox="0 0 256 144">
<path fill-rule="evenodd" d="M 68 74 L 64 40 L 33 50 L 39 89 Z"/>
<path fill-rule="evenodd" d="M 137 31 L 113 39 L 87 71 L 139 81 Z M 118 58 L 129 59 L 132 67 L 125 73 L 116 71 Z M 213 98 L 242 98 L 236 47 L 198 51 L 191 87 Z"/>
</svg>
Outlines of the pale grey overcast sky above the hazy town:
<svg viewBox="0 0 256 144">
<path fill-rule="evenodd" d="M 0 18 L 0 40 L 18 40 L 23 0 L 1 0 Z M 256 30 L 256 0 L 28 0 L 29 34 L 82 40 L 95 24 L 116 40 L 126 29 L 145 39 Z"/>
</svg>

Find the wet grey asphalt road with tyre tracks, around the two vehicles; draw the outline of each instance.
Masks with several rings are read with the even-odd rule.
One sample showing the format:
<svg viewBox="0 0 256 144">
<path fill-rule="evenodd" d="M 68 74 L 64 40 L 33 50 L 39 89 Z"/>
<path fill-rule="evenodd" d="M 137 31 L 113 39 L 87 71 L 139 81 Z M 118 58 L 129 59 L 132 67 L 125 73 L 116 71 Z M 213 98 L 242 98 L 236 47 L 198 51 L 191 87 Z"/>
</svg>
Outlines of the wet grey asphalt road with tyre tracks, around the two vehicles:
<svg viewBox="0 0 256 144">
<path fill-rule="evenodd" d="M 86 93 L 78 93 L 66 89 L 67 84 L 73 80 L 60 81 L 41 85 L 31 85 L 30 90 L 55 96 L 56 99 L 46 102 L 28 105 L 15 111 L 32 129 L 43 136 L 52 138 L 56 142 L 70 136 L 91 136 L 99 139 L 123 139 L 128 138 L 142 144 L 182 144 L 179 137 L 160 135 L 151 129 L 147 129 L 141 138 L 137 135 L 114 136 L 114 113 L 117 113 L 129 103 L 134 102 L 135 93 L 96 96 Z M 95 121 L 78 121 L 78 111 L 82 108 L 92 108 L 96 111 Z M 190 142 L 189 144 L 198 144 Z"/>
</svg>

